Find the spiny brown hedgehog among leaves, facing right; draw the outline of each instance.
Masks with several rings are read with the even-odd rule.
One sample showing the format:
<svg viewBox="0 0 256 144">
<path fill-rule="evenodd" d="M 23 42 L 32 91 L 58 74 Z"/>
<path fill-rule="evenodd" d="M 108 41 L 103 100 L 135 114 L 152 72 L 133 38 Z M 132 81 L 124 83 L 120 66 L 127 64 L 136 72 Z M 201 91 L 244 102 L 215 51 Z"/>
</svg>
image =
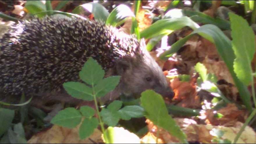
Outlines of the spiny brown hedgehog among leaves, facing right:
<svg viewBox="0 0 256 144">
<path fill-rule="evenodd" d="M 102 21 L 58 17 L 34 18 L 12 26 L 0 38 L 1 97 L 63 91 L 63 83 L 79 81 L 79 71 L 92 57 L 106 72 L 120 75 L 118 86 L 106 96 L 139 95 L 153 89 L 173 96 L 145 41 L 107 26 Z"/>
</svg>

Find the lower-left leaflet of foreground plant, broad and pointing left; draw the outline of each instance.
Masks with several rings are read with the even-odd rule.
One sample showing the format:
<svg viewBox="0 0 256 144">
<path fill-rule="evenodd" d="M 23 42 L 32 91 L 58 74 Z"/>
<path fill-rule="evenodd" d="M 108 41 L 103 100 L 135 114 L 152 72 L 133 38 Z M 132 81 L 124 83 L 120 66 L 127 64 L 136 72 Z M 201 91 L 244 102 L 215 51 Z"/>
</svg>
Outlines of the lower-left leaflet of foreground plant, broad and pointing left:
<svg viewBox="0 0 256 144">
<path fill-rule="evenodd" d="M 52 118 L 51 123 L 67 128 L 74 128 L 81 122 L 81 119 L 82 116 L 77 109 L 68 107 L 59 111 L 58 114 Z"/>
</svg>

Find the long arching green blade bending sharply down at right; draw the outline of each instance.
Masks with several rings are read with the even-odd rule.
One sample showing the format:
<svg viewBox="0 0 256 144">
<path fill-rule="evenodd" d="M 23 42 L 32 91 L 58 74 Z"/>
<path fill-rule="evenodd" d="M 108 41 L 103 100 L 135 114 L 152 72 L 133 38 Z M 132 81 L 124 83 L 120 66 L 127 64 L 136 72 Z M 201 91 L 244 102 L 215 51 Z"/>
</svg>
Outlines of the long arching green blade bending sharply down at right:
<svg viewBox="0 0 256 144">
<path fill-rule="evenodd" d="M 172 55 L 173 53 L 177 52 L 179 48 L 181 48 L 187 40 L 189 40 L 193 35 L 199 34 L 202 37 L 208 39 L 210 42 L 213 42 L 216 45 L 219 55 L 221 56 L 222 60 L 227 65 L 228 70 L 230 71 L 234 83 L 236 84 L 241 99 L 243 100 L 244 105 L 249 111 L 252 111 L 252 106 L 250 103 L 250 93 L 246 87 L 236 76 L 233 70 L 233 62 L 235 59 L 234 51 L 232 50 L 232 45 L 230 39 L 217 27 L 211 24 L 206 24 L 201 26 L 200 28 L 194 30 L 191 34 L 187 35 L 186 37 L 178 40 L 175 42 L 171 49 L 166 50 L 163 52 L 159 58 L 162 60 L 168 59 L 168 56 Z"/>
</svg>

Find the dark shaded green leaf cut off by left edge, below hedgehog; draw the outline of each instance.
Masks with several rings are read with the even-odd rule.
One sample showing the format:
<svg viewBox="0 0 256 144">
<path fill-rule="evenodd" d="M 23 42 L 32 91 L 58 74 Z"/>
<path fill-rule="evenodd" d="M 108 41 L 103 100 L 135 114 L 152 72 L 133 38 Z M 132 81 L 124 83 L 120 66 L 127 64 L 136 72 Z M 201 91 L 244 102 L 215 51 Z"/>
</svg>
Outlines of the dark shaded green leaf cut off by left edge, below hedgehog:
<svg viewBox="0 0 256 144">
<path fill-rule="evenodd" d="M 10 127 L 14 118 L 14 110 L 0 108 L 0 137 L 4 134 Z"/>
</svg>

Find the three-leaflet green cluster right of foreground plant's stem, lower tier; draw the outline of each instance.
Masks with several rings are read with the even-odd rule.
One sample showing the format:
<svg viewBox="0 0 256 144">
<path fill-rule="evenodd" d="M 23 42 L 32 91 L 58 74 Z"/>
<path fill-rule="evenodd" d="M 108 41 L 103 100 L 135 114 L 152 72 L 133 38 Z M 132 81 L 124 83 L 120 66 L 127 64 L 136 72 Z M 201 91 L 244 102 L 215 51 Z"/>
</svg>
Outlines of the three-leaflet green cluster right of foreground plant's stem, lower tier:
<svg viewBox="0 0 256 144">
<path fill-rule="evenodd" d="M 120 119 L 130 120 L 144 116 L 144 109 L 140 106 L 125 106 L 122 109 L 122 101 L 115 100 L 107 108 L 100 112 L 102 120 L 109 126 L 115 126 Z"/>
</svg>

